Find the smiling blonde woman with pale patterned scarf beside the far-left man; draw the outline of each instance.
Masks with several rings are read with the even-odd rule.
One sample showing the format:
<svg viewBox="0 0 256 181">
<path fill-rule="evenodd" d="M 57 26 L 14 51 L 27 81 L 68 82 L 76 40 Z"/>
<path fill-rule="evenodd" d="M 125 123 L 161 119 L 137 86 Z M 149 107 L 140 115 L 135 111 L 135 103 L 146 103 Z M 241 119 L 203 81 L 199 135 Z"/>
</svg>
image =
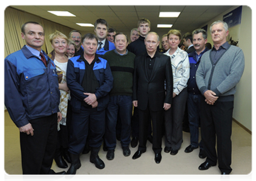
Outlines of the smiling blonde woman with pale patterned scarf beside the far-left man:
<svg viewBox="0 0 256 181">
<path fill-rule="evenodd" d="M 61 92 L 61 101 L 59 104 L 59 110 L 62 113 L 62 119 L 58 124 L 58 135 L 57 135 L 57 146 L 54 156 L 54 160 L 57 164 L 57 167 L 67 168 L 68 165 L 63 159 L 67 162 L 71 162 L 70 155 L 68 153 L 68 130 L 67 130 L 67 108 L 68 108 L 68 99 L 69 89 L 66 81 L 66 71 L 68 65 L 68 56 L 66 55 L 68 47 L 68 38 L 65 34 L 55 31 L 53 34 L 50 34 L 50 42 L 53 48 L 53 51 L 48 54 L 51 60 L 54 61 L 57 69 L 57 75 L 59 80 L 59 90 Z M 63 157 L 62 157 L 63 156 Z"/>
</svg>

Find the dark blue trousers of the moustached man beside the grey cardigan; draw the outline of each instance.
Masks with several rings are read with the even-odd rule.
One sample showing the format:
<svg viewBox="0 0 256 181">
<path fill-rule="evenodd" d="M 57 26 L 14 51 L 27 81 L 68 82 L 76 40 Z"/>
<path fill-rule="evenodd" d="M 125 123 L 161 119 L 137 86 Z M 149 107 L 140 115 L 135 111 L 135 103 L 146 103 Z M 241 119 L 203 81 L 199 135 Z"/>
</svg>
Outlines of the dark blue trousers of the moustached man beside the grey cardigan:
<svg viewBox="0 0 256 181">
<path fill-rule="evenodd" d="M 190 130 L 190 144 L 203 149 L 202 141 L 199 144 L 199 105 L 202 95 L 188 93 L 188 121 Z"/>
</svg>

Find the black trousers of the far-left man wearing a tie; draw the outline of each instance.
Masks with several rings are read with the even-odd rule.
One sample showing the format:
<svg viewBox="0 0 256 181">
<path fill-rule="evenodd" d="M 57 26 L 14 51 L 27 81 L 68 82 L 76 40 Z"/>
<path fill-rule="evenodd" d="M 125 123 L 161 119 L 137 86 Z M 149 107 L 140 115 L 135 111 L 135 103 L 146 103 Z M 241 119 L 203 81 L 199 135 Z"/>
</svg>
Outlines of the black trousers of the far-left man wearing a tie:
<svg viewBox="0 0 256 181">
<path fill-rule="evenodd" d="M 51 180 L 51 170 L 57 143 L 57 113 L 30 120 L 34 135 L 20 133 L 22 172 L 24 181 Z"/>
</svg>

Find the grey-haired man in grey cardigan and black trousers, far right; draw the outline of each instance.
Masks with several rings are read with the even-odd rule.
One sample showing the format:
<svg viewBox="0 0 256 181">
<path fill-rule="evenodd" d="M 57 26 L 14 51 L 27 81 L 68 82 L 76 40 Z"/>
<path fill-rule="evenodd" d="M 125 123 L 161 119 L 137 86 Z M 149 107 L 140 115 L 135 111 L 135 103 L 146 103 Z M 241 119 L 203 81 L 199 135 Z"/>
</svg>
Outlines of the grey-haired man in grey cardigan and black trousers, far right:
<svg viewBox="0 0 256 181">
<path fill-rule="evenodd" d="M 229 34 L 226 22 L 212 23 L 210 31 L 214 47 L 203 54 L 196 72 L 197 86 L 203 95 L 200 118 L 203 147 L 207 157 L 199 166 L 199 170 L 215 166 L 218 160 L 218 168 L 222 171 L 220 180 L 227 181 L 232 171 L 234 94 L 245 68 L 245 57 L 240 48 L 226 42 Z"/>
</svg>

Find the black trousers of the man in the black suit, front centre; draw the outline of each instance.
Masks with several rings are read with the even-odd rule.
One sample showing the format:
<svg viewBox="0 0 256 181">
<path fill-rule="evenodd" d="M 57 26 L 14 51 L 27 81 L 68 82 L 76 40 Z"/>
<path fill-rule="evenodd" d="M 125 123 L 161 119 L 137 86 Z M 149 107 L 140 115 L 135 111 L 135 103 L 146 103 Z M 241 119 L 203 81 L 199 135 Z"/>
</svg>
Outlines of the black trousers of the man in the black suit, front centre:
<svg viewBox="0 0 256 181">
<path fill-rule="evenodd" d="M 152 120 L 153 130 L 153 151 L 154 153 L 161 153 L 162 151 L 162 124 L 163 124 L 163 110 L 154 112 L 147 107 L 146 110 L 139 111 L 139 148 L 140 151 L 146 151 L 146 141 L 148 138 L 149 119 Z"/>
</svg>

